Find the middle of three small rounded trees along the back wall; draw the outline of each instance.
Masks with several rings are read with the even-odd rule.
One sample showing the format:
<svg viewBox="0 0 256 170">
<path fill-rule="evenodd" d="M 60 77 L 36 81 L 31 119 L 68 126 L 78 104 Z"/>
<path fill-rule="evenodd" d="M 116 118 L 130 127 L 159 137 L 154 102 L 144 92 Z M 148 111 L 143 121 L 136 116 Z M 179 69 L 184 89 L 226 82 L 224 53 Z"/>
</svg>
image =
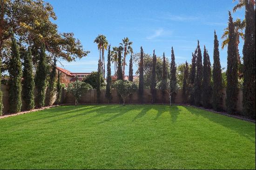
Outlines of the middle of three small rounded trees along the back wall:
<svg viewBox="0 0 256 170">
<path fill-rule="evenodd" d="M 125 104 L 125 99 L 129 97 L 132 93 L 136 92 L 138 86 L 131 81 L 127 80 L 117 80 L 114 83 L 114 88 L 120 94 L 123 99 L 123 105 Z"/>
</svg>

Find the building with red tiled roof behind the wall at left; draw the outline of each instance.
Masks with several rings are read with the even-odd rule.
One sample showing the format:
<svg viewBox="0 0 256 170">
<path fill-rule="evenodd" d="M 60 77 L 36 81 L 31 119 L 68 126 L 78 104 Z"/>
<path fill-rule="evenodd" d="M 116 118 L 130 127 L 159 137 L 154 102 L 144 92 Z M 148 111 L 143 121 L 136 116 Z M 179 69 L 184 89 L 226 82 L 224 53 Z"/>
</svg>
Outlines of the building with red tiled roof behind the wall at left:
<svg viewBox="0 0 256 170">
<path fill-rule="evenodd" d="M 56 67 L 57 72 L 60 71 L 61 74 L 61 83 L 68 84 L 71 81 L 75 81 L 75 76 L 79 80 L 82 80 L 85 76 L 90 75 L 90 72 L 70 72 L 64 68 Z"/>
</svg>

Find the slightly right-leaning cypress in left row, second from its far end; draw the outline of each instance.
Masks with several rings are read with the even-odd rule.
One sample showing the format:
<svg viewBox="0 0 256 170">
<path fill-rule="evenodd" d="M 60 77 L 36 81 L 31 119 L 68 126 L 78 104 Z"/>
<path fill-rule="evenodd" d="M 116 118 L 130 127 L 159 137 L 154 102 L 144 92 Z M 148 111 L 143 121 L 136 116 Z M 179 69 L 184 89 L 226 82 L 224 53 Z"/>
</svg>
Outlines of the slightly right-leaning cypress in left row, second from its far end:
<svg viewBox="0 0 256 170">
<path fill-rule="evenodd" d="M 49 84 L 46 90 L 46 100 L 45 100 L 45 105 L 51 105 L 53 103 L 54 99 L 54 94 L 55 94 L 55 89 L 54 89 L 54 84 L 56 81 L 56 59 L 54 59 L 54 63 L 52 65 L 52 70 L 50 72 L 50 79 L 49 79 Z"/>
</svg>

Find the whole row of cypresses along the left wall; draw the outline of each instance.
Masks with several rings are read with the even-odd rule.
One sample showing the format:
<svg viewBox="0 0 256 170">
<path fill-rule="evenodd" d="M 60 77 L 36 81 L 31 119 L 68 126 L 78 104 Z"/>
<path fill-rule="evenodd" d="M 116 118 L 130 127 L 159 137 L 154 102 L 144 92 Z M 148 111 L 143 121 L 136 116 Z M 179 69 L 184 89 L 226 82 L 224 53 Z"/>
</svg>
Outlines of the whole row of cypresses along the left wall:
<svg viewBox="0 0 256 170">
<path fill-rule="evenodd" d="M 50 105 L 54 96 L 54 82 L 56 76 L 56 59 L 54 59 L 54 65 L 50 74 L 49 85 L 47 88 L 47 103 L 45 104 L 45 89 L 46 89 L 46 80 L 47 80 L 47 62 L 46 62 L 46 53 L 45 45 L 42 44 L 39 53 L 39 63 L 37 70 L 33 73 L 33 64 L 32 64 L 32 53 L 31 49 L 28 47 L 27 51 L 23 56 L 23 69 L 20 59 L 20 51 L 17 41 L 12 33 L 12 45 L 11 45 L 11 58 L 8 65 L 9 72 L 9 111 L 11 113 L 20 112 L 22 106 L 23 98 L 25 102 L 25 109 L 31 110 L 34 109 L 35 105 L 37 107 L 43 107 L 45 105 Z M 1 59 L 0 59 L 1 61 Z M 1 63 L 0 63 L 1 64 Z M 58 84 L 57 84 L 57 102 L 60 102 L 61 96 L 61 83 L 60 75 L 58 73 Z M 36 104 L 34 103 L 34 88 L 37 88 L 38 92 L 36 95 Z M 0 91 L 0 114 L 3 111 L 2 105 L 2 92 Z"/>
</svg>

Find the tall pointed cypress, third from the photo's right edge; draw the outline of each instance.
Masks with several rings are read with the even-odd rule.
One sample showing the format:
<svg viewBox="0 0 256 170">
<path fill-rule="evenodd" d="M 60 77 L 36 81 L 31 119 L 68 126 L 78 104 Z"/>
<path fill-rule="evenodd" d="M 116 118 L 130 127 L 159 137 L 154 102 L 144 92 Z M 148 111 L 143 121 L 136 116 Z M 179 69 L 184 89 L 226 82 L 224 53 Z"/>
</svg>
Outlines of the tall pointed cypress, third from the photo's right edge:
<svg viewBox="0 0 256 170">
<path fill-rule="evenodd" d="M 215 111 L 222 110 L 222 70 L 220 63 L 219 41 L 216 31 L 214 31 L 214 49 L 213 49 L 213 95 L 212 106 Z"/>
</svg>

